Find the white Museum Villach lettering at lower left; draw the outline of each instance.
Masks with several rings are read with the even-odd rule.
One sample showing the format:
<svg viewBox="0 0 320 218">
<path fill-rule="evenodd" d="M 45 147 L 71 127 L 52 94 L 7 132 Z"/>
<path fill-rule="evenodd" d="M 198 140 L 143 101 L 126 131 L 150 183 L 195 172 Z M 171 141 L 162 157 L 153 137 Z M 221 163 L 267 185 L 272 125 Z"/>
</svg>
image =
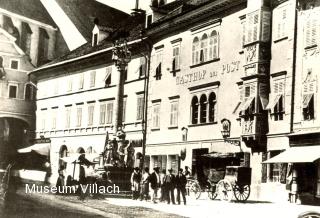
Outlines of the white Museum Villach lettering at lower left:
<svg viewBox="0 0 320 218">
<path fill-rule="evenodd" d="M 110 186 L 98 186 L 97 184 L 79 185 L 83 193 L 90 194 L 119 194 L 119 186 L 113 184 Z M 75 194 L 77 192 L 76 186 L 45 186 L 36 184 L 26 184 L 26 193 L 44 193 L 44 194 Z"/>
</svg>

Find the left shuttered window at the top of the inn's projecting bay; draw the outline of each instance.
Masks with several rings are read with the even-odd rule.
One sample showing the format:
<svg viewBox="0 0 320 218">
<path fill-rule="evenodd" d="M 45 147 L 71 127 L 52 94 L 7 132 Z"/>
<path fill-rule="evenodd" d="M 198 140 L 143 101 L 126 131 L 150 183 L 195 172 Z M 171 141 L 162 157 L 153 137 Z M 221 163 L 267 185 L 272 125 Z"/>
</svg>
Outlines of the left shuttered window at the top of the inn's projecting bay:
<svg viewBox="0 0 320 218">
<path fill-rule="evenodd" d="M 246 44 L 252 43 L 258 40 L 258 33 L 259 33 L 259 11 L 253 12 L 251 14 L 247 15 L 247 20 L 246 22 L 246 29 L 247 29 L 247 34 L 246 34 Z"/>
</svg>

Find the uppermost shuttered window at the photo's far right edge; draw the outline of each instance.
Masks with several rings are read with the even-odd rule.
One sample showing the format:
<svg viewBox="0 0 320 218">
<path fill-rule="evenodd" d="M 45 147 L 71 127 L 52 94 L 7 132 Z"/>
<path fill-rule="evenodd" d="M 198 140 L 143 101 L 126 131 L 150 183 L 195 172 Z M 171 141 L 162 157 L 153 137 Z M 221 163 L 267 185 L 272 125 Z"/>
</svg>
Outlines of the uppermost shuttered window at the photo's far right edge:
<svg viewBox="0 0 320 218">
<path fill-rule="evenodd" d="M 304 27 L 305 33 L 305 47 L 312 47 L 317 45 L 318 36 L 318 17 L 311 14 L 310 17 L 306 18 L 306 24 Z"/>
</svg>

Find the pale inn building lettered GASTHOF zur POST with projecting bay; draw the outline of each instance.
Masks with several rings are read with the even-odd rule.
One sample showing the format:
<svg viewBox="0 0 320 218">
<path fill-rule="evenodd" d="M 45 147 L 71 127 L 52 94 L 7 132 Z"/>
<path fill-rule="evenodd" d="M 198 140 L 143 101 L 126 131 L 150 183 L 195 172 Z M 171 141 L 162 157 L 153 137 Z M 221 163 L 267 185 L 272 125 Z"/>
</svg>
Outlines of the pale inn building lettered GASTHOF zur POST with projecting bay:
<svg viewBox="0 0 320 218">
<path fill-rule="evenodd" d="M 238 164 L 252 167 L 252 196 L 259 197 L 268 127 L 268 5 L 174 1 L 147 14 L 154 45 L 146 162 L 175 171 L 189 166 L 201 179 L 219 162 L 204 154 L 234 153 Z"/>
</svg>

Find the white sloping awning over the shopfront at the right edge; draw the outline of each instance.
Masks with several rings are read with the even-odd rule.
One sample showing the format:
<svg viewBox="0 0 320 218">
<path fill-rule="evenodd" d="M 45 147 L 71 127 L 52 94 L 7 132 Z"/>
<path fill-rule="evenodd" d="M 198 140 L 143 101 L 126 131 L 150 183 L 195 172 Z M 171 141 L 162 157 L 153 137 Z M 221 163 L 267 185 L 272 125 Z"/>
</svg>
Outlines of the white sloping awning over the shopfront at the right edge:
<svg viewBox="0 0 320 218">
<path fill-rule="evenodd" d="M 263 163 L 311 163 L 320 158 L 320 145 L 291 147 Z"/>
</svg>

